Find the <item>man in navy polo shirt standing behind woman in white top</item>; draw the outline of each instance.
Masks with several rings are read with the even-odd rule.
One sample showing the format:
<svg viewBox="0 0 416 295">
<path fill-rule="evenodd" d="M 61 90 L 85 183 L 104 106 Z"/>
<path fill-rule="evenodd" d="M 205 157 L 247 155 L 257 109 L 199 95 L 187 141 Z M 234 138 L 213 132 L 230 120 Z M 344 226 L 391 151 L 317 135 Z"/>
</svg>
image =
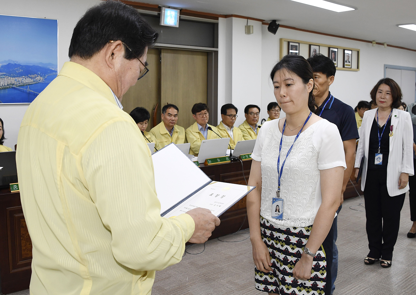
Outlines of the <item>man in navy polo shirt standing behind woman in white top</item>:
<svg viewBox="0 0 416 295">
<path fill-rule="evenodd" d="M 349 177 L 355 161 L 355 142 L 359 138 L 357 130 L 357 122 L 355 120 L 355 113 L 351 106 L 343 103 L 339 99 L 332 96 L 329 92 L 329 86 L 334 82 L 335 68 L 334 62 L 322 54 L 316 54 L 307 59 L 312 66 L 315 86 L 313 94 L 315 102 L 319 106 L 315 112 L 318 116 L 327 119 L 329 122 L 337 125 L 339 133 L 341 134 L 342 143 L 344 144 L 345 162 L 347 169 L 344 171 L 344 182 L 342 184 L 341 205 L 337 210 L 337 214 L 342 208 L 344 202 L 344 191 L 347 187 Z M 335 242 L 337 241 L 337 217 L 335 217 L 332 224 L 334 231 L 334 245 L 333 245 L 333 260 L 331 267 L 332 290 L 335 289 L 335 279 L 338 272 L 338 249 Z"/>
</svg>

